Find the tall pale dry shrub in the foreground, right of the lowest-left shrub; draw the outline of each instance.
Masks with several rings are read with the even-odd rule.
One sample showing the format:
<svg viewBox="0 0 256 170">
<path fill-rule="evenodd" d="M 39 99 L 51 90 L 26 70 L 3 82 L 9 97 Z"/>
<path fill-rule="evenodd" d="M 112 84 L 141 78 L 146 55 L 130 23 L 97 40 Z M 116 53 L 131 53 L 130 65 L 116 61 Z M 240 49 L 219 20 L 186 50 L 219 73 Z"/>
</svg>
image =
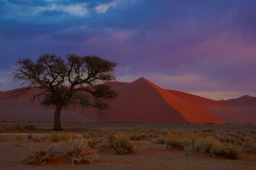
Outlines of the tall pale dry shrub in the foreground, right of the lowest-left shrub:
<svg viewBox="0 0 256 170">
<path fill-rule="evenodd" d="M 81 161 L 93 163 L 97 159 L 96 151 L 92 150 L 82 139 L 70 139 L 67 145 L 67 156 L 73 163 Z"/>
</svg>

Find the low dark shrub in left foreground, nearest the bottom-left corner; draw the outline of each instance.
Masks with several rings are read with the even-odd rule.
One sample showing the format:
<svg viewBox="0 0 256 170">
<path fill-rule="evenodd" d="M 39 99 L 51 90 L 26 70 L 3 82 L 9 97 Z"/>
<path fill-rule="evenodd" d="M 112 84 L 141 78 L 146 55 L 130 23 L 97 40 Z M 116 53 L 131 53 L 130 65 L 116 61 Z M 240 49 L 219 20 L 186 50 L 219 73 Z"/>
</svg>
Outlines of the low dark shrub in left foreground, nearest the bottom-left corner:
<svg viewBox="0 0 256 170">
<path fill-rule="evenodd" d="M 27 163 L 41 163 L 44 164 L 54 159 L 54 155 L 50 153 L 49 150 L 46 149 L 39 149 L 39 150 L 32 150 L 31 156 L 28 156 L 25 161 Z"/>
</svg>

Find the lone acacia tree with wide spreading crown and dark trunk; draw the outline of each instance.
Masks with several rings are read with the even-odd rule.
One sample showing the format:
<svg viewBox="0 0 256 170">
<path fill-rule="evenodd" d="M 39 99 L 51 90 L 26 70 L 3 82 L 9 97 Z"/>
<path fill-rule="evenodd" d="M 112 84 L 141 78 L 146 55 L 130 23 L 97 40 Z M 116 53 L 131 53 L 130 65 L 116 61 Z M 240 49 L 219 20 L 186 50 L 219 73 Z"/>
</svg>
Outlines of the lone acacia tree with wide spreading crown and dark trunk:
<svg viewBox="0 0 256 170">
<path fill-rule="evenodd" d="M 43 105 L 55 106 L 54 130 L 61 130 L 61 111 L 70 105 L 107 109 L 108 101 L 117 95 L 104 82 L 114 80 L 116 63 L 98 56 L 43 54 L 37 61 L 20 59 L 14 71 L 15 81 L 21 81 L 26 92 L 40 88 L 33 99 Z"/>
</svg>

